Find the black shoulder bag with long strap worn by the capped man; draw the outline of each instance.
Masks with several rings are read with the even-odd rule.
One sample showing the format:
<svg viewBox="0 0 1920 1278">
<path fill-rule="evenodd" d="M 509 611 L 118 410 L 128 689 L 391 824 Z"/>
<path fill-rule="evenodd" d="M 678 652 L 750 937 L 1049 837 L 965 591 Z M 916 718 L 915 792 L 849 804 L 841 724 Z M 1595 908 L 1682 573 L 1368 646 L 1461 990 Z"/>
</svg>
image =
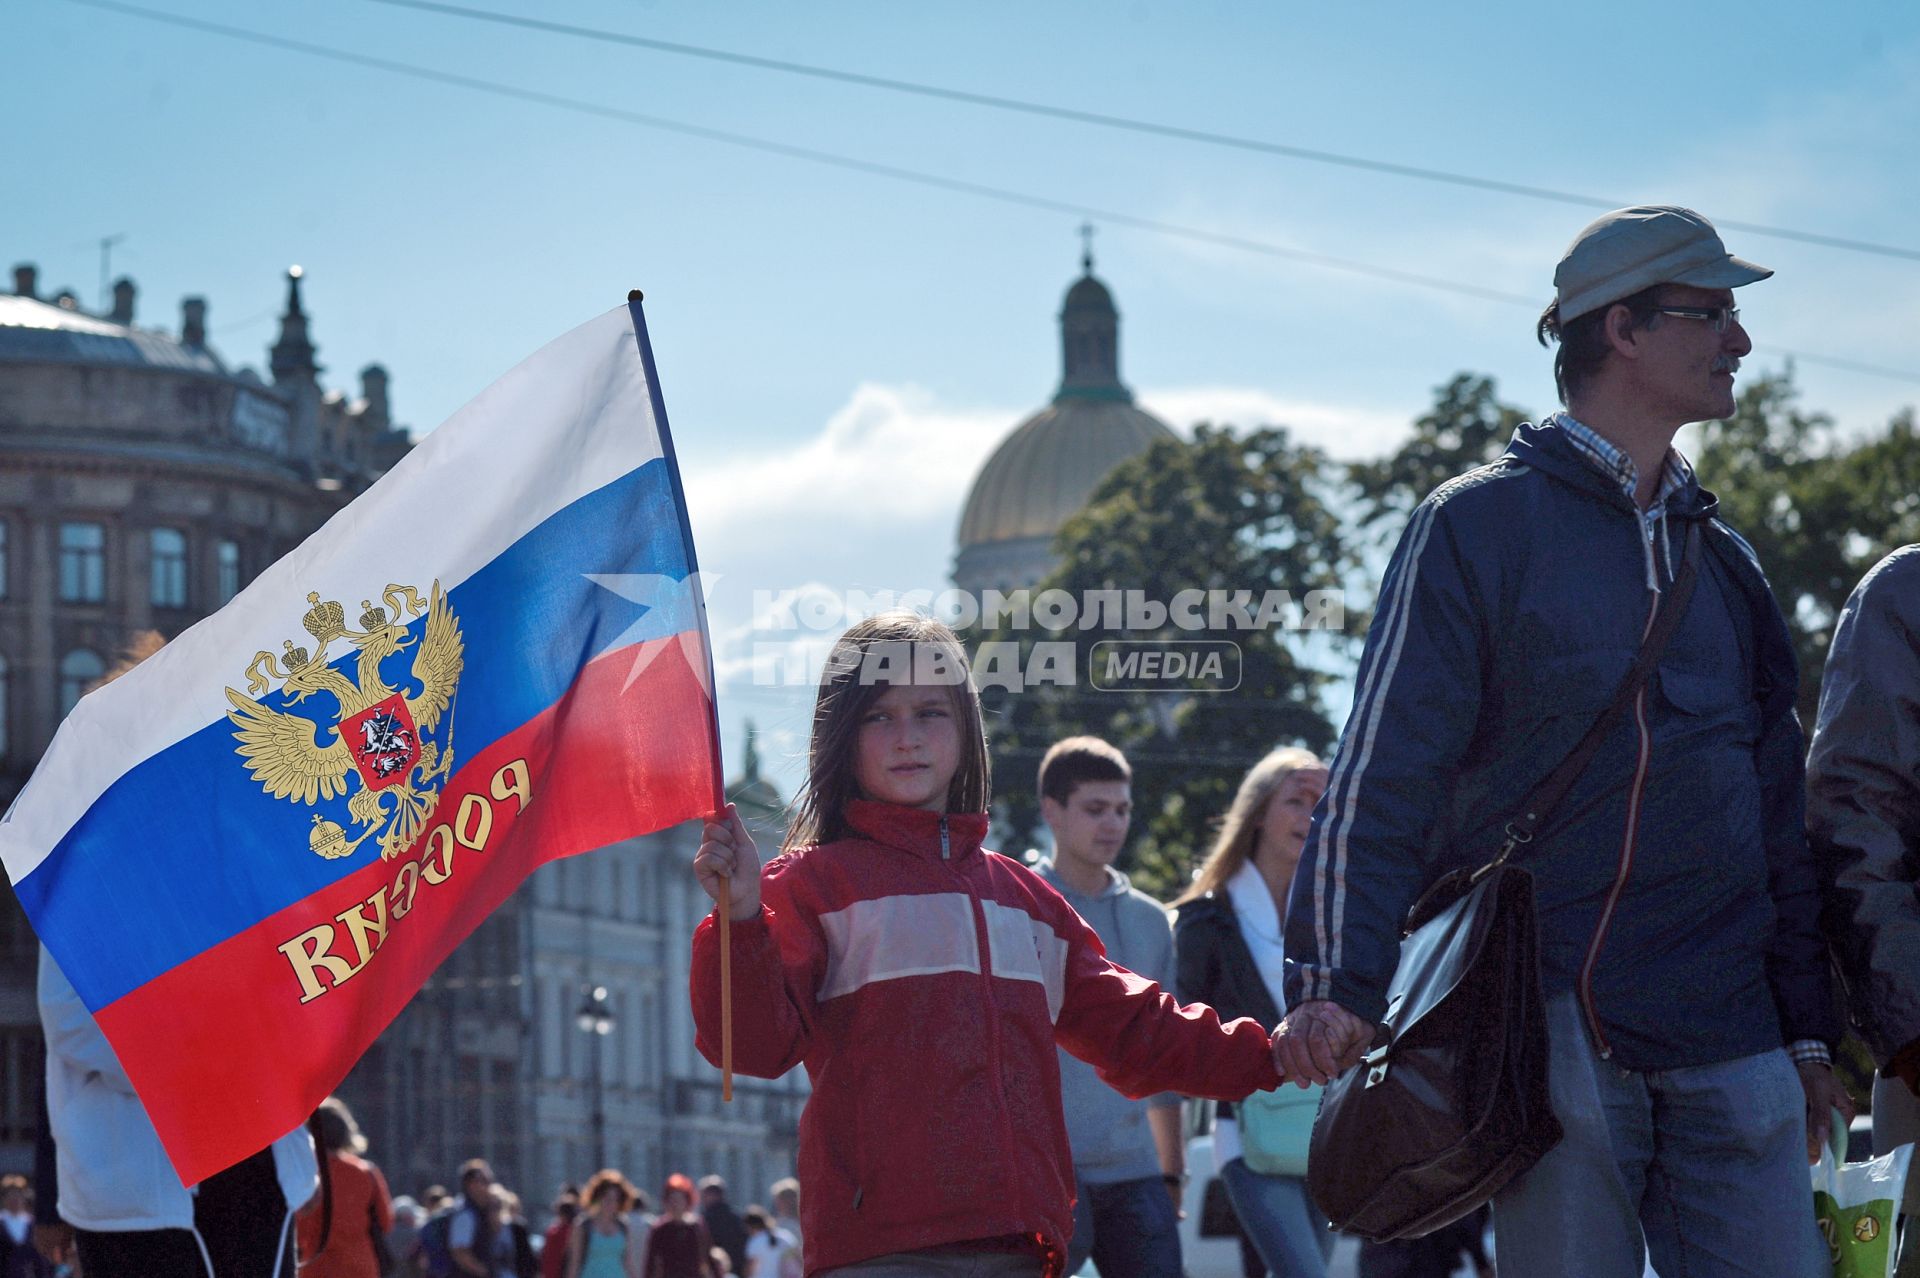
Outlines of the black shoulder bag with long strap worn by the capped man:
<svg viewBox="0 0 1920 1278">
<path fill-rule="evenodd" d="M 1455 869 L 1407 911 L 1386 1017 L 1313 1123 L 1308 1190 L 1342 1234 L 1419 1238 L 1475 1211 L 1561 1138 L 1548 1098 L 1534 877 L 1507 858 L 1586 771 L 1645 685 L 1699 572 L 1699 528 L 1613 700 L 1507 821 L 1492 862 Z"/>
</svg>

